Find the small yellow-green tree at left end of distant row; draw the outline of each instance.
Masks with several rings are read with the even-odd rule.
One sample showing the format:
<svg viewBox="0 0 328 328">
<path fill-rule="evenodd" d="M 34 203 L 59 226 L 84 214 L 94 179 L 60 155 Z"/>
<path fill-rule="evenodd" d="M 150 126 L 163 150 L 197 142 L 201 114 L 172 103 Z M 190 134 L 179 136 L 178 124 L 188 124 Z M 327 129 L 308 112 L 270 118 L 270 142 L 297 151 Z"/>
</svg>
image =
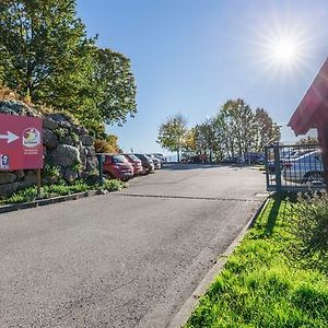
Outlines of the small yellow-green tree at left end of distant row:
<svg viewBox="0 0 328 328">
<path fill-rule="evenodd" d="M 185 143 L 187 133 L 187 121 L 180 114 L 168 117 L 166 122 L 159 129 L 157 142 L 165 149 L 177 153 L 177 161 L 180 161 L 180 150 Z"/>
</svg>

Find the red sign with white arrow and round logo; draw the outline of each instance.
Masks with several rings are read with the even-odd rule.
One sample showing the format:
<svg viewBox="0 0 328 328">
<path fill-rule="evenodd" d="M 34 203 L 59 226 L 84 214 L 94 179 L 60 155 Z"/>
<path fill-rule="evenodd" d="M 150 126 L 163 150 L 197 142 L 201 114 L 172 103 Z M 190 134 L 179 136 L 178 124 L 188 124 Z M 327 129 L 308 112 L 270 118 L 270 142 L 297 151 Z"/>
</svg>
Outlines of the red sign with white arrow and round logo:
<svg viewBox="0 0 328 328">
<path fill-rule="evenodd" d="M 0 114 L 0 171 L 43 168 L 43 120 Z"/>
</svg>

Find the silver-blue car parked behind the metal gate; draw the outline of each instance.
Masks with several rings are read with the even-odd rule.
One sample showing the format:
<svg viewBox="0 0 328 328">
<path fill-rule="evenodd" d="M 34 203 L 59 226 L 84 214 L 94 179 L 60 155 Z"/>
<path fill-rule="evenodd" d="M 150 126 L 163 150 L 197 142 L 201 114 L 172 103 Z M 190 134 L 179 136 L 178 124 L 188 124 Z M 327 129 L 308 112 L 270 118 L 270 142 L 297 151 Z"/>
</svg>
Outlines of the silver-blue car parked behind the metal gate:
<svg viewBox="0 0 328 328">
<path fill-rule="evenodd" d="M 324 163 L 320 151 L 292 157 L 282 164 L 282 176 L 286 181 L 296 184 L 324 183 Z"/>
</svg>

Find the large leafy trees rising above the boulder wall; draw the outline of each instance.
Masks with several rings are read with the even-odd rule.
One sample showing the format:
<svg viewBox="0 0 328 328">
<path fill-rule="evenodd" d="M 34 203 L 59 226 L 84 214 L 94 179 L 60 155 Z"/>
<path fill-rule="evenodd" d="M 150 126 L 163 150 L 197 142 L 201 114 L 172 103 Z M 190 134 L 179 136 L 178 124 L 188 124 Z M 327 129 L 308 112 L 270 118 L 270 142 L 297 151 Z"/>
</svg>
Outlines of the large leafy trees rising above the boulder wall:
<svg viewBox="0 0 328 328">
<path fill-rule="evenodd" d="M 67 110 L 98 138 L 137 112 L 130 60 L 96 46 L 75 0 L 0 1 L 0 83 Z"/>
</svg>

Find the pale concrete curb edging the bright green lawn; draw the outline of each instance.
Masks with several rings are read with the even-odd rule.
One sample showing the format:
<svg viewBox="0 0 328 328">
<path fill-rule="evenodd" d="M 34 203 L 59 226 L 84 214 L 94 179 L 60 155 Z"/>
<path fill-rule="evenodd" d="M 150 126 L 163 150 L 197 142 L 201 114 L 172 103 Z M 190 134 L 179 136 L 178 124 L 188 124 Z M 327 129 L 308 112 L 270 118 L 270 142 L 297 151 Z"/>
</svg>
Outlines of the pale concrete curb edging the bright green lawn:
<svg viewBox="0 0 328 328">
<path fill-rule="evenodd" d="M 268 197 L 261 206 L 258 208 L 256 213 L 253 215 L 253 218 L 246 223 L 246 225 L 243 227 L 241 233 L 236 236 L 236 238 L 232 242 L 232 244 L 226 248 L 226 250 L 220 255 L 216 263 L 210 269 L 210 271 L 204 276 L 202 281 L 199 283 L 199 285 L 196 288 L 196 290 L 192 292 L 192 294 L 188 297 L 188 300 L 184 303 L 184 305 L 180 307 L 178 313 L 173 317 L 168 328 L 180 328 L 184 325 L 187 324 L 187 320 L 189 319 L 190 315 L 192 314 L 194 309 L 199 304 L 199 300 L 201 296 L 203 296 L 209 289 L 209 286 L 212 284 L 214 278 L 222 271 L 224 265 L 227 261 L 227 258 L 230 255 L 233 254 L 234 249 L 238 244 L 243 241 L 244 236 L 246 235 L 249 227 L 251 227 L 260 214 L 260 212 L 268 206 L 270 200 L 270 197 Z"/>
</svg>

